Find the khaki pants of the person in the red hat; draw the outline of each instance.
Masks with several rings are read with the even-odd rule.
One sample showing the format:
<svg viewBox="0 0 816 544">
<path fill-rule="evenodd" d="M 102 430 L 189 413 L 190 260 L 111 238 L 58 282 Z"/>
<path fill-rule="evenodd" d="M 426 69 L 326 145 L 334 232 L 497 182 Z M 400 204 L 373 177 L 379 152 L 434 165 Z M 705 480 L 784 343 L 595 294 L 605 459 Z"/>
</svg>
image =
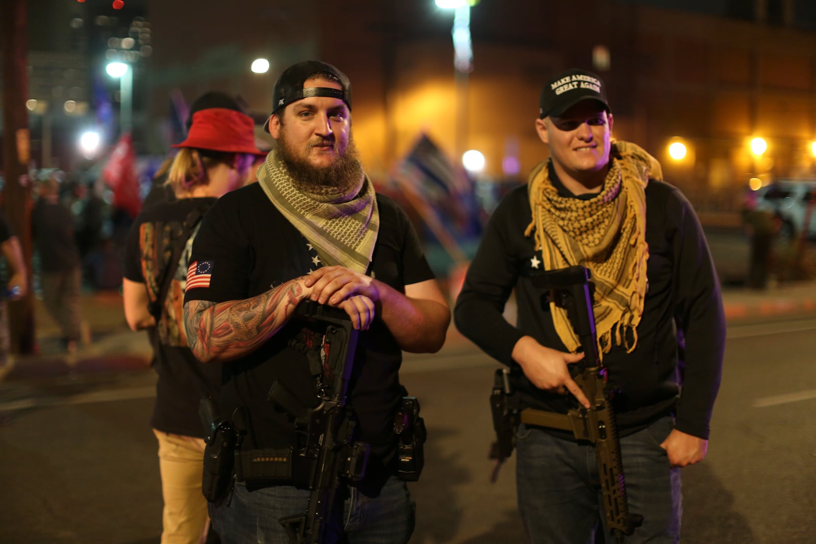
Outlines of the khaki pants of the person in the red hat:
<svg viewBox="0 0 816 544">
<path fill-rule="evenodd" d="M 206 541 L 210 518 L 202 495 L 204 440 L 156 431 L 162 473 L 162 544 Z"/>
</svg>

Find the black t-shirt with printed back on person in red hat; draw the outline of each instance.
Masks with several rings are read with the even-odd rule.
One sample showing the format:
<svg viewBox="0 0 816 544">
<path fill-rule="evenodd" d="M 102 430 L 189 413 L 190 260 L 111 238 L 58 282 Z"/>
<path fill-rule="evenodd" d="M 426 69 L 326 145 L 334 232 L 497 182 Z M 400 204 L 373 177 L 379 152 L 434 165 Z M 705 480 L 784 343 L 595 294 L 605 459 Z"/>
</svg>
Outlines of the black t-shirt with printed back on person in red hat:
<svg viewBox="0 0 816 544">
<path fill-rule="evenodd" d="M 144 283 L 151 302 L 162 288 L 165 269 L 176 264 L 168 260 L 183 236 L 184 221 L 195 210 L 195 215 L 203 215 L 214 202 L 215 198 L 183 198 L 151 206 L 136 217 L 126 241 L 124 275 L 130 281 Z M 192 240 L 188 240 L 180 257 L 184 265 L 175 269 L 162 317 L 156 329 L 150 331 L 158 374 L 150 424 L 158 431 L 203 437 L 198 403 L 202 396 L 217 396 L 221 365 L 203 364 L 187 347 L 183 299 L 191 245 Z"/>
</svg>

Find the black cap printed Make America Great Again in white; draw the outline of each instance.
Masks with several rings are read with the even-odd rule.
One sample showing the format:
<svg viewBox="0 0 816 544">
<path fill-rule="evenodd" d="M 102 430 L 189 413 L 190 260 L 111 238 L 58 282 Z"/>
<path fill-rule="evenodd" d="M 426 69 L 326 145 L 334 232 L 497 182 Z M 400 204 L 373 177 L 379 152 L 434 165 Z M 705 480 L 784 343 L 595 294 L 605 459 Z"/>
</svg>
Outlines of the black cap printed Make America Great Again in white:
<svg viewBox="0 0 816 544">
<path fill-rule="evenodd" d="M 581 69 L 559 73 L 544 85 L 539 102 L 539 117 L 558 117 L 581 100 L 596 100 L 611 113 L 601 77 Z"/>
</svg>

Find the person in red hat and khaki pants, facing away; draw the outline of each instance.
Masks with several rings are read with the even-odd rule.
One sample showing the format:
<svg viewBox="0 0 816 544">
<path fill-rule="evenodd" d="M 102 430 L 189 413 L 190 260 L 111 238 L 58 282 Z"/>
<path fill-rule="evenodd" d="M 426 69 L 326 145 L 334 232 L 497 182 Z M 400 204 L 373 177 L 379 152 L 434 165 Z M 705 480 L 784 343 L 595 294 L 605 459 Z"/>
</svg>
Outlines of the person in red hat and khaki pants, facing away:
<svg viewBox="0 0 816 544">
<path fill-rule="evenodd" d="M 128 234 L 122 294 L 131 329 L 149 329 L 158 374 L 150 424 L 158 440 L 164 511 L 162 542 L 204 542 L 210 522 L 202 495 L 205 432 L 198 403 L 215 396 L 220 365 L 190 352 L 182 321 L 187 261 L 198 223 L 215 201 L 241 187 L 255 156 L 254 122 L 228 108 L 193 114 L 167 176 L 175 200 L 140 212 Z M 212 535 L 211 535 L 212 536 Z"/>
</svg>

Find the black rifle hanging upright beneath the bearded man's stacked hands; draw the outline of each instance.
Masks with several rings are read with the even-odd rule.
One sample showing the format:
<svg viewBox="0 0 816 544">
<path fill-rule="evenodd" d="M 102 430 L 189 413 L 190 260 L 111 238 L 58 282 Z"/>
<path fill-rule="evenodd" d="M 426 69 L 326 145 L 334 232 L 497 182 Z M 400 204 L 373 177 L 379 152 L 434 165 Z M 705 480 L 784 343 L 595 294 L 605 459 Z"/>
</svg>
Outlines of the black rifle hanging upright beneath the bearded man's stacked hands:
<svg viewBox="0 0 816 544">
<path fill-rule="evenodd" d="M 325 324 L 326 329 L 321 347 L 322 368 L 313 369 L 319 405 L 304 412 L 296 401 L 291 402 L 293 397 L 282 383 L 275 383 L 269 392 L 269 400 L 278 405 L 284 408 L 293 405 L 290 413 L 297 414 L 297 422 L 308 422 L 306 442 L 295 454 L 314 459 L 309 477 L 312 493 L 305 514 L 283 518 L 281 524 L 292 544 L 322 544 L 343 482 L 361 480 L 368 460 L 369 446 L 353 442 L 354 420 L 346 411 L 358 331 L 346 312 L 313 301 L 299 303 L 295 317 Z"/>
</svg>

